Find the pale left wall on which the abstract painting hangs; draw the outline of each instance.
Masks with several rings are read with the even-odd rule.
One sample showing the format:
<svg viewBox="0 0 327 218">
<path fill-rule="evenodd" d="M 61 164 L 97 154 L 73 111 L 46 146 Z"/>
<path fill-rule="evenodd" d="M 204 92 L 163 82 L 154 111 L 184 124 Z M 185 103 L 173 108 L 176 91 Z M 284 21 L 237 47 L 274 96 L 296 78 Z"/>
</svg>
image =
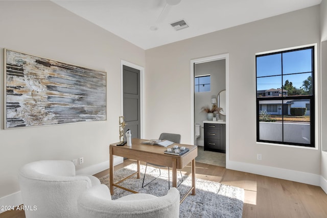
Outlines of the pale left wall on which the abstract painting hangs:
<svg viewBox="0 0 327 218">
<path fill-rule="evenodd" d="M 10 205 L 3 203 L 17 199 L 11 195 L 25 163 L 84 157 L 76 168 L 85 172 L 109 160 L 109 144 L 119 141 L 121 60 L 144 66 L 145 51 L 50 1 L 0 1 L 0 29 L 0 75 L 4 48 L 107 72 L 106 121 L 4 130 L 1 89 L 0 205 Z"/>
</svg>

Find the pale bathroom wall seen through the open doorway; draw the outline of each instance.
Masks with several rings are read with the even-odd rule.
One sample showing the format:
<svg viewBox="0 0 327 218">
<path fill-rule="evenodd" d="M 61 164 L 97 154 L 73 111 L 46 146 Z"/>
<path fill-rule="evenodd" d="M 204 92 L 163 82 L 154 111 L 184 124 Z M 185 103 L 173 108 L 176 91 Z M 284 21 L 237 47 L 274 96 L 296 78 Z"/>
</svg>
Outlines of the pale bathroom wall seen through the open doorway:
<svg viewBox="0 0 327 218">
<path fill-rule="evenodd" d="M 203 120 L 206 120 L 206 113 L 201 112 L 201 108 L 205 106 L 212 106 L 211 99 L 216 98 L 220 91 L 226 89 L 225 76 L 225 60 L 210 61 L 198 63 L 194 66 L 195 76 L 211 75 L 211 90 L 208 92 L 195 93 L 195 123 L 201 125 L 200 137 L 198 138 L 198 145 L 203 146 Z M 221 116 L 225 118 L 225 116 Z"/>
</svg>

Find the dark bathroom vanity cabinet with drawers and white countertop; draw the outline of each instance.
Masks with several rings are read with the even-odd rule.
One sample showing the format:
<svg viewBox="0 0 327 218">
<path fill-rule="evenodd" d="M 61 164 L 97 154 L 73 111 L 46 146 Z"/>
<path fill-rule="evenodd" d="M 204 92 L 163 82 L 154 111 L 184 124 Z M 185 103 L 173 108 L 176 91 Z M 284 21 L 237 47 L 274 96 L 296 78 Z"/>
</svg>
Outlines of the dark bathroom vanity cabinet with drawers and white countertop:
<svg viewBox="0 0 327 218">
<path fill-rule="evenodd" d="M 203 121 L 204 151 L 226 153 L 226 123 Z"/>
</svg>

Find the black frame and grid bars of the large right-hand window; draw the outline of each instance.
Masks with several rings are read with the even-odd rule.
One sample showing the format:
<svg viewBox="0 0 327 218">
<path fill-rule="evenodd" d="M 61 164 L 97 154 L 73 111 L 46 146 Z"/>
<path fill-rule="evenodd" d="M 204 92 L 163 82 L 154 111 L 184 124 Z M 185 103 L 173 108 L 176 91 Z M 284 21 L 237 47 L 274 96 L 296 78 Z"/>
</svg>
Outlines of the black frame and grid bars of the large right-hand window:
<svg viewBox="0 0 327 218">
<path fill-rule="evenodd" d="M 288 74 L 283 74 L 283 53 L 288 53 L 288 52 L 295 52 L 295 51 L 300 51 L 300 50 L 312 50 L 312 55 L 311 55 L 311 67 L 312 67 L 312 75 L 311 75 L 311 81 L 312 81 L 312 94 L 311 95 L 290 95 L 290 96 L 284 96 L 284 83 L 283 83 L 283 76 L 288 75 Z M 315 148 L 315 72 L 316 72 L 316 67 L 315 67 L 315 53 L 316 52 L 316 46 L 315 45 L 306 45 L 306 46 L 300 46 L 296 48 L 291 48 L 291 49 L 285 49 L 285 50 L 279 50 L 275 52 L 267 52 L 267 53 L 260 53 L 255 55 L 255 88 L 256 88 L 256 141 L 257 142 L 268 142 L 268 143 L 274 143 L 274 144 L 285 144 L 285 145 L 291 145 L 291 146 L 299 146 L 299 147 L 311 147 Z M 258 96 L 258 75 L 257 75 L 257 58 L 262 57 L 262 56 L 269 56 L 269 55 L 275 55 L 275 54 L 282 54 L 281 55 L 281 85 L 283 87 L 282 89 L 282 96 Z M 304 73 L 304 72 L 303 72 Z M 296 73 L 298 74 L 298 73 Z M 275 75 L 276 76 L 276 75 Z M 262 77 L 259 77 L 262 78 Z M 259 114 L 260 114 L 260 101 L 274 101 L 274 100 L 279 100 L 281 102 L 284 102 L 283 100 L 309 100 L 310 102 L 310 143 L 296 143 L 296 142 L 287 142 L 284 141 L 284 125 L 282 125 L 283 131 L 282 131 L 282 140 L 283 141 L 271 141 L 271 140 L 264 140 L 260 139 L 260 120 L 259 120 Z M 307 107 L 307 104 L 306 104 Z M 283 108 L 283 106 L 282 106 Z M 282 112 L 282 124 L 284 124 L 284 113 Z M 287 123 L 287 122 L 286 122 Z"/>
</svg>

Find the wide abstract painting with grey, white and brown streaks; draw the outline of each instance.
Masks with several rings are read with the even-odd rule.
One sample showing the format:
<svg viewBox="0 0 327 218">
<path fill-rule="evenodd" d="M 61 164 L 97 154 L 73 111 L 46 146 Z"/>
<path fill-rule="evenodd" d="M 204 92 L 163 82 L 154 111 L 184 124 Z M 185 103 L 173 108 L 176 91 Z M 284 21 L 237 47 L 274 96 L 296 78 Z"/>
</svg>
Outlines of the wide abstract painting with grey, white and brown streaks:
<svg viewBox="0 0 327 218">
<path fill-rule="evenodd" d="M 5 49 L 5 128 L 106 120 L 106 72 Z"/>
</svg>

